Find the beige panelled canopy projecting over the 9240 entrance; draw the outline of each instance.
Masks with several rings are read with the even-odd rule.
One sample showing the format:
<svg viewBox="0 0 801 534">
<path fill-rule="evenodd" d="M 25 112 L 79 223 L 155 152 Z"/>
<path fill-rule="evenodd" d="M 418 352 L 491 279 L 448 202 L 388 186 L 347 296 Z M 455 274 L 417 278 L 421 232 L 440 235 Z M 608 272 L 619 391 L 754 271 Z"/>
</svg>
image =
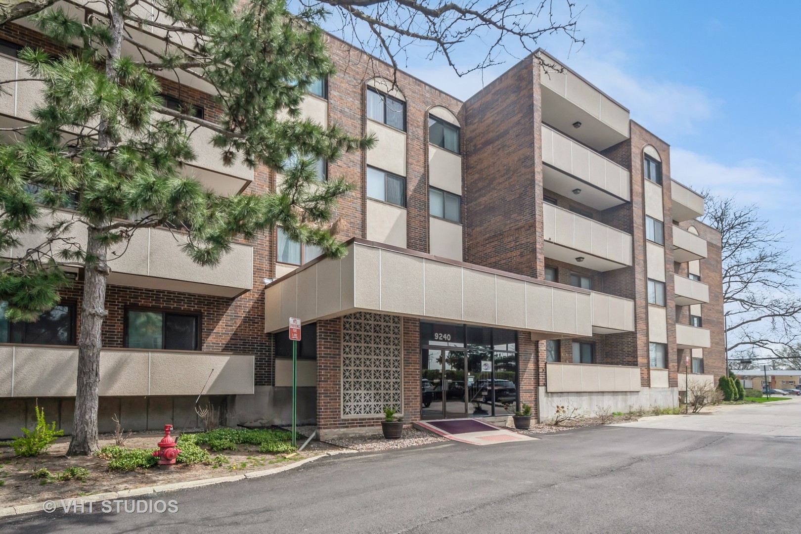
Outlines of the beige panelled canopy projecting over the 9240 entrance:
<svg viewBox="0 0 801 534">
<path fill-rule="evenodd" d="M 318 258 L 268 285 L 264 330 L 354 311 L 590 336 L 590 291 L 353 238 L 343 259 Z"/>
</svg>

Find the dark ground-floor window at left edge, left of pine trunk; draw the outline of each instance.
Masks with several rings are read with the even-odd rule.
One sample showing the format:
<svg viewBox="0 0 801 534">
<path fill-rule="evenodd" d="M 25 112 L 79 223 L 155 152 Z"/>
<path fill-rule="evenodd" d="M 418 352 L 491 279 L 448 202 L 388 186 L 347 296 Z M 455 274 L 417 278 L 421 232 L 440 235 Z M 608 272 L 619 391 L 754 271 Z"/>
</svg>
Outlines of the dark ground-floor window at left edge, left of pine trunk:
<svg viewBox="0 0 801 534">
<path fill-rule="evenodd" d="M 10 323 L 6 320 L 7 303 L 0 302 L 0 343 L 36 345 L 75 344 L 75 305 L 58 304 L 39 315 L 34 323 Z"/>
</svg>

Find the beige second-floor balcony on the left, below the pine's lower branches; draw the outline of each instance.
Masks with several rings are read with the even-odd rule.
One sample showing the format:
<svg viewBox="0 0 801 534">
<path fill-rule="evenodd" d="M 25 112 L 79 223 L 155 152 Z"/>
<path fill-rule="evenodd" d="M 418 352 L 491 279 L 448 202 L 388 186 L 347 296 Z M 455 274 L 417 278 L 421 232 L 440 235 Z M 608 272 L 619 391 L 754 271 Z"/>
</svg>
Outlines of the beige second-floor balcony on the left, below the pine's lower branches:
<svg viewBox="0 0 801 534">
<path fill-rule="evenodd" d="M 68 211 L 57 211 L 44 218 L 69 219 Z M 40 224 L 48 223 L 40 219 Z M 85 246 L 87 234 L 83 225 L 76 224 L 69 236 Z M 65 236 L 66 237 L 66 236 Z M 18 257 L 44 241 L 42 232 L 20 237 L 20 246 L 3 255 Z M 166 228 L 145 228 L 136 231 L 130 243 L 121 243 L 112 250 L 125 253 L 109 255 L 111 275 L 108 283 L 129 286 L 183 291 L 199 295 L 235 297 L 253 287 L 253 247 L 232 243 L 231 251 L 223 256 L 217 267 L 201 267 L 180 250 L 187 236 Z M 127 244 L 127 248 L 126 248 Z"/>
</svg>

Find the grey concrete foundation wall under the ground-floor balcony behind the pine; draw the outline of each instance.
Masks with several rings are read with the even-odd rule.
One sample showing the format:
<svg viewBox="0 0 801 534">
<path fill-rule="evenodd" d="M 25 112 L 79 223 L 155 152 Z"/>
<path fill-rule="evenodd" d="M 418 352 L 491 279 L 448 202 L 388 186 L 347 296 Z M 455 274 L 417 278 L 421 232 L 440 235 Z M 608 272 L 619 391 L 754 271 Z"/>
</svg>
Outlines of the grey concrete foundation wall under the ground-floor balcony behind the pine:
<svg viewBox="0 0 801 534">
<path fill-rule="evenodd" d="M 202 422 L 195 412 L 196 396 L 177 397 L 100 397 L 98 407 L 98 429 L 101 434 L 114 432 L 117 416 L 123 428 L 133 431 L 163 430 L 171 424 L 176 432 L 183 429 L 200 428 Z M 209 402 L 223 416 L 224 424 L 234 424 L 224 418 L 231 412 L 231 403 L 222 395 L 204 395 L 198 405 L 205 407 Z M 22 436 L 22 428 L 36 426 L 34 408 L 37 399 L 0 399 L 0 440 L 12 436 Z M 38 406 L 45 412 L 47 424 L 55 421 L 56 428 L 70 436 L 73 429 L 75 399 L 72 397 L 49 397 L 38 399 Z M 158 440 L 154 441 L 155 444 Z"/>
</svg>

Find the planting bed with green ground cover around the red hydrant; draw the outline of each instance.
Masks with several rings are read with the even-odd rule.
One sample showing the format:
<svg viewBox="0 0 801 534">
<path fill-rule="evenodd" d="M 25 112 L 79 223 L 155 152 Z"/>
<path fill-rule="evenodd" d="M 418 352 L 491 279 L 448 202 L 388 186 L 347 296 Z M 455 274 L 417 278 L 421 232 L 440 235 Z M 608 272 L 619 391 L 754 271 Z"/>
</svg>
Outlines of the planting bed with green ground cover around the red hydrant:
<svg viewBox="0 0 801 534">
<path fill-rule="evenodd" d="M 163 432 L 141 432 L 129 437 L 125 441 L 124 447 L 124 450 L 129 452 L 129 457 L 122 461 L 119 459 L 123 455 L 119 451 L 109 448 L 115 447 L 114 436 L 101 436 L 99 445 L 105 449 L 106 454 L 96 456 L 64 456 L 69 445 L 69 438 L 57 440 L 46 453 L 39 456 L 15 456 L 10 447 L 2 447 L 0 448 L 0 508 L 38 503 L 50 499 L 118 492 L 123 489 L 261 471 L 282 464 L 291 464 L 310 456 L 341 450 L 331 444 L 312 440 L 302 452 L 293 453 L 290 441 L 287 439 L 291 439 L 292 434 L 279 433 L 279 431 L 273 433 L 272 437 L 277 437 L 275 440 L 271 440 L 276 445 L 262 447 L 265 452 L 259 452 L 260 444 L 232 443 L 241 436 L 248 436 L 248 432 L 251 432 L 252 440 L 258 440 L 259 436 L 252 434 L 254 431 L 221 428 L 212 432 L 216 433 L 211 433 L 212 438 L 217 438 L 219 441 L 226 439 L 229 443 L 211 440 L 211 446 L 218 448 L 217 451 L 209 450 L 210 446 L 207 443 L 195 444 L 195 447 L 202 452 L 192 451 L 192 454 L 195 455 L 193 460 L 199 459 L 199 461 L 191 464 L 178 463 L 170 470 L 158 467 L 135 467 L 127 470 L 128 466 L 125 465 L 133 462 L 130 456 L 138 456 L 138 461 L 149 462 L 145 456 L 157 448 L 159 440 L 164 436 Z M 187 434 L 187 436 L 204 436 L 204 434 L 208 435 L 209 433 Z M 197 438 L 194 439 L 197 440 Z M 186 438 L 182 439 L 179 436 L 179 440 L 185 441 Z M 208 440 L 201 437 L 199 441 L 207 442 Z M 302 444 L 303 441 L 305 438 L 299 437 L 298 443 Z M 235 450 L 223 450 L 224 447 L 231 445 L 235 446 Z M 186 445 L 183 447 L 179 445 L 179 448 L 184 451 L 192 449 Z M 266 452 L 267 449 L 280 449 L 280 451 Z M 144 451 L 147 454 L 131 454 L 130 451 L 133 450 Z M 115 458 L 111 456 L 112 452 L 115 452 L 117 456 L 118 465 L 116 466 Z M 122 465 L 119 465 L 120 463 Z M 110 468 L 110 464 L 117 468 Z M 43 472 L 42 469 L 46 469 L 46 472 Z M 85 469 L 86 472 L 83 472 L 82 469 Z M 34 476 L 34 474 L 38 476 Z M 83 476 L 85 474 L 88 476 Z M 59 476 L 62 480 L 58 480 Z M 80 480 L 82 478 L 84 480 Z"/>
</svg>

